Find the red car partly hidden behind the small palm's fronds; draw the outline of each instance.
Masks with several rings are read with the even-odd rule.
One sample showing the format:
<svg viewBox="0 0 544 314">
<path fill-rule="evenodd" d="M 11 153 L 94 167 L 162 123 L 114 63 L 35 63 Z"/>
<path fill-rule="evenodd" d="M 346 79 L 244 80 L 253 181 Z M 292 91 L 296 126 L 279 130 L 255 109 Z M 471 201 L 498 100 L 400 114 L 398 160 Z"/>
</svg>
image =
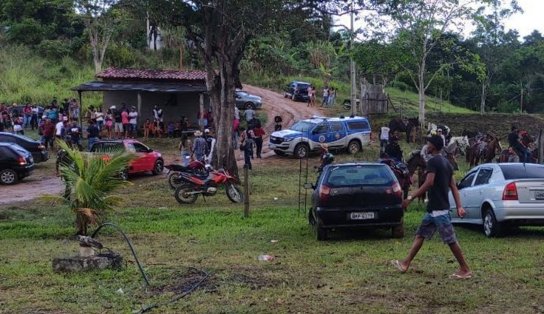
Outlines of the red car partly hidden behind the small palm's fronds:
<svg viewBox="0 0 544 314">
<path fill-rule="evenodd" d="M 164 169 L 164 160 L 161 153 L 153 151 L 151 148 L 144 144 L 132 140 L 106 140 L 98 141 L 91 147 L 92 153 L 110 153 L 125 151 L 128 153 L 136 154 L 129 167 L 128 171 L 123 173 L 123 179 L 127 179 L 129 174 L 141 173 L 150 171 L 154 175 L 162 173 Z"/>
</svg>

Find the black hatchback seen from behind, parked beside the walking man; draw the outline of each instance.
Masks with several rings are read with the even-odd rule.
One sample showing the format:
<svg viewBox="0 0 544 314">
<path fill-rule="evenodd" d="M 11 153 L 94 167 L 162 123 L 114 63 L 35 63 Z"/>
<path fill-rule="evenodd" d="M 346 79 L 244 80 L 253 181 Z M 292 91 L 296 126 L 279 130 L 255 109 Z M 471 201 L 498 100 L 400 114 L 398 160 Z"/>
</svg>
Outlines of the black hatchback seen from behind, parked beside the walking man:
<svg viewBox="0 0 544 314">
<path fill-rule="evenodd" d="M 317 240 L 338 228 L 391 228 L 393 237 L 404 236 L 402 189 L 387 165 L 331 164 L 313 188 L 308 219 Z"/>
</svg>

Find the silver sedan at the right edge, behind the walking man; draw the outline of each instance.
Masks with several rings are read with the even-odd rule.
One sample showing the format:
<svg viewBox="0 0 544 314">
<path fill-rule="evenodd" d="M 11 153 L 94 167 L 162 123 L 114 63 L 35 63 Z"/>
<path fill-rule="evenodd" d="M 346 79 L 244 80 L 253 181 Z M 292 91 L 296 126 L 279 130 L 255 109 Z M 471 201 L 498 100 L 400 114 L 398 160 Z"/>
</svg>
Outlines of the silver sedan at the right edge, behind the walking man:
<svg viewBox="0 0 544 314">
<path fill-rule="evenodd" d="M 467 211 L 457 216 L 450 193 L 452 222 L 483 226 L 488 237 L 508 227 L 544 225 L 544 165 L 483 164 L 459 181 L 461 203 Z"/>
</svg>

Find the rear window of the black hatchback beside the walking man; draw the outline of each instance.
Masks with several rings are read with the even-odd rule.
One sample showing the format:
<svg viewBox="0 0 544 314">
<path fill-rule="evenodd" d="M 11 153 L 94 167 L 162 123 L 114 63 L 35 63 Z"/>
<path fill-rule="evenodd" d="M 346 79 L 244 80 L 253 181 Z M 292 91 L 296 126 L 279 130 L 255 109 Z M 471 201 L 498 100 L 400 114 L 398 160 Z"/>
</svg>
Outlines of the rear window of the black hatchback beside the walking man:
<svg viewBox="0 0 544 314">
<path fill-rule="evenodd" d="M 393 176 L 386 165 L 348 165 L 330 168 L 326 184 L 332 187 L 392 185 Z"/>
</svg>

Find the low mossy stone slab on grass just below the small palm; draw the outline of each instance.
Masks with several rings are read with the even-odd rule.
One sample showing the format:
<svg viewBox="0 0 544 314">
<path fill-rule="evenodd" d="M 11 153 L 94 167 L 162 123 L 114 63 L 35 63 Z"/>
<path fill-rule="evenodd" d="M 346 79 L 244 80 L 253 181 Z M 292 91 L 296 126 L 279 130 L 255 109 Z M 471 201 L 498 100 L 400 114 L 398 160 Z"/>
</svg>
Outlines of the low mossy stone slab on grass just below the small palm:
<svg viewBox="0 0 544 314">
<path fill-rule="evenodd" d="M 82 272 L 97 269 L 120 269 L 123 257 L 115 252 L 102 253 L 94 256 L 72 256 L 53 259 L 55 272 Z"/>
</svg>

